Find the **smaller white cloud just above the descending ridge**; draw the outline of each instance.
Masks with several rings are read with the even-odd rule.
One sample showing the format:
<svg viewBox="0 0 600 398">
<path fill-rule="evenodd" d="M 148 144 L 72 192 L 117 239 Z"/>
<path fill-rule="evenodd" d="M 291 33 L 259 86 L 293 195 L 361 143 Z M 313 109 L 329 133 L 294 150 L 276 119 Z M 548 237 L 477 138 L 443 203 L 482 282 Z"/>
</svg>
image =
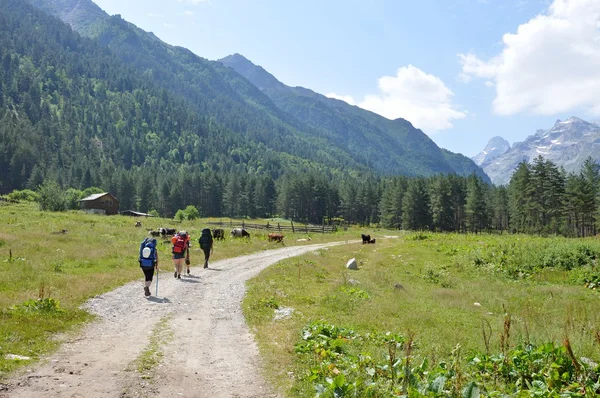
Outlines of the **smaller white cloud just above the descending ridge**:
<svg viewBox="0 0 600 398">
<path fill-rule="evenodd" d="M 356 105 L 388 119 L 404 118 L 428 133 L 449 129 L 452 120 L 467 116 L 455 108 L 454 94 L 439 77 L 412 65 L 399 68 L 396 76 L 381 77 L 378 87 L 379 93 Z"/>
</svg>

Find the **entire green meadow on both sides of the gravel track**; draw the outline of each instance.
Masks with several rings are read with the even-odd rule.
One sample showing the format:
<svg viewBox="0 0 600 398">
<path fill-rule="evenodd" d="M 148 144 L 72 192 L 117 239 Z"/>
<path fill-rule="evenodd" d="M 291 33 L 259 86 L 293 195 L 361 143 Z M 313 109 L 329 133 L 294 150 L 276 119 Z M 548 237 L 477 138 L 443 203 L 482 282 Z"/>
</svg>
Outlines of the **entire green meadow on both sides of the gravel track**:
<svg viewBox="0 0 600 398">
<path fill-rule="evenodd" d="M 134 280 L 141 286 L 147 228 L 185 229 L 196 242 L 209 221 L 142 219 L 136 228 L 137 219 L 41 212 L 30 203 L 0 204 L 0 219 L 0 379 L 89 321 L 79 306 L 90 297 Z M 377 243 L 292 258 L 249 282 L 246 318 L 271 382 L 289 396 L 600 392 L 597 238 L 354 228 L 312 234 L 309 243 L 363 232 Z M 213 260 L 279 247 L 251 233 L 217 242 Z M 306 235 L 286 234 L 285 244 L 308 243 L 299 238 Z M 159 245 L 170 272 L 169 251 Z M 345 268 L 353 257 L 359 270 Z M 202 262 L 197 244 L 191 258 Z M 274 320 L 286 307 L 291 317 Z"/>
</svg>

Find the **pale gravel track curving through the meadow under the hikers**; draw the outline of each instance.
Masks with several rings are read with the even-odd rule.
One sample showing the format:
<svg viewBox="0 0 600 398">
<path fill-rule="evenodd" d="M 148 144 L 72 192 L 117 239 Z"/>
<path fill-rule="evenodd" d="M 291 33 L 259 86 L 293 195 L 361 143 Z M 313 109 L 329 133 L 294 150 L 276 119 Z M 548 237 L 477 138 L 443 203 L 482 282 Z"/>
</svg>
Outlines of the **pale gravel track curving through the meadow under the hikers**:
<svg viewBox="0 0 600 398">
<path fill-rule="evenodd" d="M 11 380 L 0 397 L 278 397 L 262 378 L 258 349 L 244 321 L 245 283 L 287 257 L 337 244 L 222 260 L 209 269 L 193 267 L 192 276 L 181 280 L 163 261 L 158 298 L 145 299 L 138 281 L 90 300 L 87 308 L 99 319 L 37 368 Z M 195 256 L 199 262 L 200 254 Z M 133 361 L 149 346 L 157 325 L 166 325 L 170 337 L 161 340 L 163 360 L 144 379 Z"/>
</svg>

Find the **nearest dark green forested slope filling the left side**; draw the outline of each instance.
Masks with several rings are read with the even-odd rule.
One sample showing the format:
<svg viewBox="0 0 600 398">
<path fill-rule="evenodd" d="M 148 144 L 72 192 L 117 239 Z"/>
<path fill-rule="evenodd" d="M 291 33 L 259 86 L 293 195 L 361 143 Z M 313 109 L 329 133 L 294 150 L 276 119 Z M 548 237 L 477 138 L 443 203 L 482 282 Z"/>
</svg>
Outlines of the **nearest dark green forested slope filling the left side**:
<svg viewBox="0 0 600 398">
<path fill-rule="evenodd" d="M 47 177 L 66 187 L 110 187 L 118 181 L 106 180 L 119 178 L 117 171 L 135 168 L 273 178 L 282 170 L 333 172 L 334 161 L 269 149 L 200 115 L 26 2 L 0 0 L 0 62 L 2 192 Z"/>
</svg>

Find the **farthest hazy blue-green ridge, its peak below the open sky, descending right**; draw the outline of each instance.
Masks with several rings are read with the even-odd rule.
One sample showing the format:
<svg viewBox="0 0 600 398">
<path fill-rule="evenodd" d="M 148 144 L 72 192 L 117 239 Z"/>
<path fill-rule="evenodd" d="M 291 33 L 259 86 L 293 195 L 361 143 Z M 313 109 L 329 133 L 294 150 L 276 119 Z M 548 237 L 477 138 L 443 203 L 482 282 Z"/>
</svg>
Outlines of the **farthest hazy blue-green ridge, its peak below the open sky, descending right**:
<svg viewBox="0 0 600 398">
<path fill-rule="evenodd" d="M 316 129 L 383 174 L 431 175 L 473 172 L 487 176 L 469 158 L 439 148 L 404 119 L 389 120 L 303 87 L 290 87 L 240 54 L 220 60 L 247 78 L 281 110 Z"/>
</svg>

